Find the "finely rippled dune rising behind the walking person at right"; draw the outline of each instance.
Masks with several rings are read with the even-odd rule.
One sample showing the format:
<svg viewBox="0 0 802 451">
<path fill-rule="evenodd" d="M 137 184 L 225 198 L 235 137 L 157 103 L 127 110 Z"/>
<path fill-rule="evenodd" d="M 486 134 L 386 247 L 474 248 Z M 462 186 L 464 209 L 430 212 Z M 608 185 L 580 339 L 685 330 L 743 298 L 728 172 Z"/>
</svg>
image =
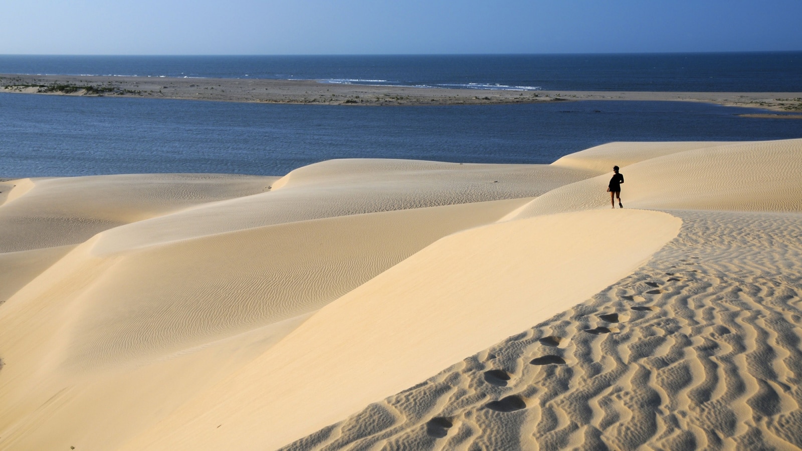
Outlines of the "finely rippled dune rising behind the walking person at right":
<svg viewBox="0 0 802 451">
<path fill-rule="evenodd" d="M 583 160 L 584 152 L 593 151 L 610 165 L 629 153 L 628 145 L 602 147 L 577 152 L 566 161 Z M 648 158 L 649 149 L 641 149 L 638 162 L 620 165 L 626 180 L 621 192 L 625 208 L 802 211 L 802 139 L 724 144 L 655 158 Z M 519 217 L 610 208 L 605 190 L 611 175 L 610 171 L 553 189 L 521 209 Z"/>
</svg>

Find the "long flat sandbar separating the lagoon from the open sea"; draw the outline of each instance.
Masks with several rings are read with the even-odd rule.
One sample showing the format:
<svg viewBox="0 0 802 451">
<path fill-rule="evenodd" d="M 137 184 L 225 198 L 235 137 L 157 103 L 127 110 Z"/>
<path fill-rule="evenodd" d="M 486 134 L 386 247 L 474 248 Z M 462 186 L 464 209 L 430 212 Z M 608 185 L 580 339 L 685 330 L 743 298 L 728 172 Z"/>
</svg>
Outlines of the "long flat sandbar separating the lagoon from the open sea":
<svg viewBox="0 0 802 451">
<path fill-rule="evenodd" d="M 639 100 L 704 102 L 762 108 L 774 112 L 802 111 L 802 92 L 512 91 L 338 84 L 284 79 L 0 74 L 0 92 L 354 106 Z"/>
</svg>

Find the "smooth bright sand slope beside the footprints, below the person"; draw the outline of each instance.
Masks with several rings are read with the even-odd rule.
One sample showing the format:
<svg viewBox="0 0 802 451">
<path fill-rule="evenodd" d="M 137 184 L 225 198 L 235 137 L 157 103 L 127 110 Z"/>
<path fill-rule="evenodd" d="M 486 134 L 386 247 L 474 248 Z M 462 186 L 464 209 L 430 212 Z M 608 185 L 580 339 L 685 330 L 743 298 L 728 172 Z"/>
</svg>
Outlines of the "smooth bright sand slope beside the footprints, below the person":
<svg viewBox="0 0 802 451">
<path fill-rule="evenodd" d="M 632 239 L 610 261 L 620 245 L 594 230 L 622 215 Z M 572 306 L 627 274 L 678 226 L 663 213 L 627 210 L 507 221 L 443 238 L 330 303 L 126 449 L 273 449 Z M 583 238 L 566 246 L 569 237 Z M 569 271 L 582 277 L 567 288 Z"/>
</svg>

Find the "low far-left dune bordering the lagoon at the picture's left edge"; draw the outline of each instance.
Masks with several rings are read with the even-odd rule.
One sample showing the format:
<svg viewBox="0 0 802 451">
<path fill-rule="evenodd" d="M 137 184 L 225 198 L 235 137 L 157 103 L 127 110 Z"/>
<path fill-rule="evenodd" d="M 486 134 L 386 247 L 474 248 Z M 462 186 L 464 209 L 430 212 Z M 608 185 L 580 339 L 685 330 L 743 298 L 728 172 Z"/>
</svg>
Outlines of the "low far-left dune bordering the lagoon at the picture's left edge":
<svg viewBox="0 0 802 451">
<path fill-rule="evenodd" d="M 85 242 L 113 227 L 209 201 L 261 193 L 275 177 L 144 174 L 9 181 L 0 251 Z"/>
</svg>

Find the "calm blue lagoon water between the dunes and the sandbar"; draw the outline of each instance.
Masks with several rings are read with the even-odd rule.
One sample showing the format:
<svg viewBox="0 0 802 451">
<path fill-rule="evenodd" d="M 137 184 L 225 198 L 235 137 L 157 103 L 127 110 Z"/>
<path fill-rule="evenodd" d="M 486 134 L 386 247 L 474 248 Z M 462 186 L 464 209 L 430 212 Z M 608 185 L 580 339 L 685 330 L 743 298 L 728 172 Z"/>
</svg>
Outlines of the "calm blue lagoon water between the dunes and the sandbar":
<svg viewBox="0 0 802 451">
<path fill-rule="evenodd" d="M 802 137 L 802 121 L 680 102 L 425 107 L 0 94 L 0 177 L 283 175 L 332 158 L 551 163 L 610 141 Z"/>
</svg>

